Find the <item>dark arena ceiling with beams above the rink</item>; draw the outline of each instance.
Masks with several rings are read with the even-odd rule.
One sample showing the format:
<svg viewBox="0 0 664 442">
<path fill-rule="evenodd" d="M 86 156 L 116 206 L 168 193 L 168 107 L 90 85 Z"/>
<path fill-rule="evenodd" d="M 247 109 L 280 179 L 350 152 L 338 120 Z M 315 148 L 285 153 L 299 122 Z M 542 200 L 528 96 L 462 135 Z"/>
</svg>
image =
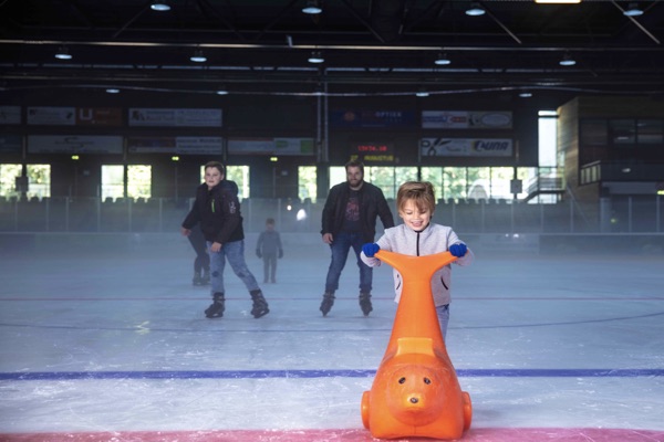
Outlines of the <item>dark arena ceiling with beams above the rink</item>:
<svg viewBox="0 0 664 442">
<path fill-rule="evenodd" d="M 664 0 L 322 0 L 319 14 L 308 0 L 169 3 L 0 0 L 0 90 L 664 94 Z M 643 13 L 623 13 L 633 6 Z"/>
</svg>

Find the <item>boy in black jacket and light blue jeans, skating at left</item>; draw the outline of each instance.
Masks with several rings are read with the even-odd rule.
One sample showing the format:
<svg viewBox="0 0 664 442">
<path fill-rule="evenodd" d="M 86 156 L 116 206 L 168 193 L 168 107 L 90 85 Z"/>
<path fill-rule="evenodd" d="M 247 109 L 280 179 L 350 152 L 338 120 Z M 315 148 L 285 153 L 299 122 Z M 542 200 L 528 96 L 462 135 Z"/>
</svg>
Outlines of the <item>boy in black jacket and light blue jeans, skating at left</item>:
<svg viewBox="0 0 664 442">
<path fill-rule="evenodd" d="M 253 299 L 251 314 L 259 318 L 270 311 L 253 274 L 245 262 L 245 231 L 237 193 L 224 186 L 225 168 L 218 161 L 205 165 L 205 182 L 196 189 L 194 207 L 183 222 L 181 232 L 188 236 L 200 223 L 210 252 L 210 284 L 212 304 L 205 311 L 208 318 L 221 317 L 225 311 L 224 267 L 226 260 L 242 280 Z"/>
</svg>

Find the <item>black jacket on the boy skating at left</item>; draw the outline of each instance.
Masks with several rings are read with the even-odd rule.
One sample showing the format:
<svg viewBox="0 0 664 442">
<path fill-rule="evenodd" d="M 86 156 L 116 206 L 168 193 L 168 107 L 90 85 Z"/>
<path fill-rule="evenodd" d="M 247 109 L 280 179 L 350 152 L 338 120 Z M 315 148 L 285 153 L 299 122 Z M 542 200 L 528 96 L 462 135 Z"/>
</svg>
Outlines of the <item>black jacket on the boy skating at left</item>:
<svg viewBox="0 0 664 442">
<path fill-rule="evenodd" d="M 191 229 L 200 223 L 205 239 L 210 242 L 225 244 L 243 240 L 240 202 L 228 182 L 224 180 L 210 190 L 205 182 L 198 186 L 196 201 L 185 218 L 183 228 Z"/>
</svg>

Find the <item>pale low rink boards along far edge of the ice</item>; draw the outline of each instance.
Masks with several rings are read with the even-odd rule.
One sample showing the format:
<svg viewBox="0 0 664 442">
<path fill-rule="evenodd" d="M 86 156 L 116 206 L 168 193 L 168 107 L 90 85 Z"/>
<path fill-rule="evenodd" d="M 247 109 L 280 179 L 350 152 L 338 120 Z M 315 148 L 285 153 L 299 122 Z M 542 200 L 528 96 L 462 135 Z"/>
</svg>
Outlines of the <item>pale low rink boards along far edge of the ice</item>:
<svg viewBox="0 0 664 442">
<path fill-rule="evenodd" d="M 621 254 L 662 255 L 664 233 L 466 233 L 459 236 L 477 255 L 504 254 Z M 246 233 L 249 250 L 258 240 L 256 232 Z M 381 233 L 378 232 L 376 238 Z M 281 233 L 283 249 L 298 256 L 320 255 L 326 245 L 319 233 Z M 154 255 L 156 252 L 190 253 L 190 244 L 179 233 L 66 233 L 66 232 L 0 232 L 0 251 L 12 256 L 24 254 L 100 254 Z M 2 253 L 8 255 L 7 253 Z"/>
</svg>

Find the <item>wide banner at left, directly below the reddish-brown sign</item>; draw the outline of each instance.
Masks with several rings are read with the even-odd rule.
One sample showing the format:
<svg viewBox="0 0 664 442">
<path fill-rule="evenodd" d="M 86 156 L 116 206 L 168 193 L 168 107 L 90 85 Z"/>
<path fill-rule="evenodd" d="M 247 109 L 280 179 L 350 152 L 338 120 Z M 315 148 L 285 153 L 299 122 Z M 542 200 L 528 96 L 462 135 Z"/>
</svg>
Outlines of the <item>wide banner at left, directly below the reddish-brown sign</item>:
<svg viewBox="0 0 664 442">
<path fill-rule="evenodd" d="M 122 154 L 115 135 L 30 135 L 29 154 Z"/>
</svg>

